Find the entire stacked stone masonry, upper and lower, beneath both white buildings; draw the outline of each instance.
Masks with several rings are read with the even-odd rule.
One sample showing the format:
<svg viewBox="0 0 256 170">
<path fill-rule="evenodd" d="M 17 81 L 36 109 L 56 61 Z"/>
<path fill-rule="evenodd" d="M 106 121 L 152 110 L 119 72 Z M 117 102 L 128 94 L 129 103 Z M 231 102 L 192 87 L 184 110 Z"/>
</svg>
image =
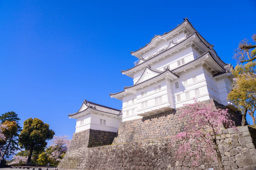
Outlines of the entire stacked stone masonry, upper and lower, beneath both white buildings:
<svg viewBox="0 0 256 170">
<path fill-rule="evenodd" d="M 213 108 L 222 107 L 214 100 Z M 118 136 L 113 132 L 88 129 L 73 135 L 69 149 L 58 165 L 63 169 L 145 169 L 145 170 L 191 170 L 220 169 L 218 162 L 206 154 L 201 157 L 199 167 L 192 166 L 193 158 L 186 156 L 175 160 L 171 137 L 184 128 L 185 120 L 179 121 L 182 108 L 133 121 L 121 122 Z M 232 112 L 236 125 L 240 115 Z M 217 143 L 225 169 L 256 169 L 256 130 L 245 126 L 238 131 L 224 129 L 217 137 Z M 107 138 L 106 138 L 107 137 Z M 105 138 L 105 140 L 104 140 Z M 112 140 L 114 141 L 112 143 Z M 156 139 L 155 139 L 156 138 Z M 108 140 L 106 140 L 108 139 Z M 110 145 L 112 143 L 112 145 Z M 114 144 L 115 143 L 115 144 Z M 107 146 L 103 146 L 107 145 Z M 98 146 L 98 147 L 95 147 Z"/>
</svg>

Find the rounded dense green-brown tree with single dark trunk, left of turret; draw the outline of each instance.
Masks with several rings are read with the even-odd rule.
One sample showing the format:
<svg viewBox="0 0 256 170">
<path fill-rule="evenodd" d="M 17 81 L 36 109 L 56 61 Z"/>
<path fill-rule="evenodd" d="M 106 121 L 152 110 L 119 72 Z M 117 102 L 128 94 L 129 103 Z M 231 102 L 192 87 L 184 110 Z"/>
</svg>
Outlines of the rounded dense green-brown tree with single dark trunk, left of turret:
<svg viewBox="0 0 256 170">
<path fill-rule="evenodd" d="M 29 150 L 27 166 L 31 163 L 33 151 L 41 151 L 47 145 L 46 140 L 54 136 L 54 131 L 49 129 L 49 125 L 37 118 L 29 118 L 23 123 L 23 130 L 19 135 L 20 148 Z"/>
</svg>

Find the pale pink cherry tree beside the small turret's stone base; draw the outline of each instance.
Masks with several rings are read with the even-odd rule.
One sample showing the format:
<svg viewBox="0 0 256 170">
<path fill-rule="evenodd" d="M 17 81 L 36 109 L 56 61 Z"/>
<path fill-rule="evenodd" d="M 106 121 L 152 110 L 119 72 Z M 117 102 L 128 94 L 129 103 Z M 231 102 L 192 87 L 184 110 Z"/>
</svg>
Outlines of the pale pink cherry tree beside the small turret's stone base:
<svg viewBox="0 0 256 170">
<path fill-rule="evenodd" d="M 54 136 L 51 142 L 52 152 L 50 158 L 54 160 L 53 164 L 56 161 L 61 161 L 61 156 L 66 153 L 70 145 L 71 140 L 67 139 L 69 136 Z"/>
</svg>

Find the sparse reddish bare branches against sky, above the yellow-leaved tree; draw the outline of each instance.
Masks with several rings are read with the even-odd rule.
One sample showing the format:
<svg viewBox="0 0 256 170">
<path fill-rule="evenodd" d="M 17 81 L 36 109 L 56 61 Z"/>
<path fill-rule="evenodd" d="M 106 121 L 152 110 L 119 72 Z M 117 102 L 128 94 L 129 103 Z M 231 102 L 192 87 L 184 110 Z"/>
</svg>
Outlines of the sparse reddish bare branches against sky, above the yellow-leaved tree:
<svg viewBox="0 0 256 170">
<path fill-rule="evenodd" d="M 256 43 L 256 34 L 252 35 L 252 41 Z M 256 59 L 256 44 L 249 43 L 246 38 L 243 39 L 235 50 L 234 59 L 239 63 L 250 62 Z"/>
</svg>

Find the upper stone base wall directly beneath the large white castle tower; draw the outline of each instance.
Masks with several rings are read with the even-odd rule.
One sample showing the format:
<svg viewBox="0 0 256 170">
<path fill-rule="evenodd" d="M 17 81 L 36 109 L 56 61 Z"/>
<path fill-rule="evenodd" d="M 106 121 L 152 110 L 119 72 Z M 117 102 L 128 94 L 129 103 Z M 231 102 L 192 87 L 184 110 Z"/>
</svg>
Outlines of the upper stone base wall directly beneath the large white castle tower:
<svg viewBox="0 0 256 170">
<path fill-rule="evenodd" d="M 227 109 L 227 107 L 213 99 L 199 102 L 199 104 L 201 103 L 211 104 L 214 108 Z M 180 120 L 179 115 L 185 108 L 184 106 L 152 116 L 120 122 L 118 137 L 114 139 L 113 143 L 168 137 L 181 132 L 184 128 L 185 119 Z M 234 111 L 230 111 L 230 113 L 233 115 L 232 119 L 235 121 L 236 126 L 241 125 L 241 115 Z"/>
</svg>

